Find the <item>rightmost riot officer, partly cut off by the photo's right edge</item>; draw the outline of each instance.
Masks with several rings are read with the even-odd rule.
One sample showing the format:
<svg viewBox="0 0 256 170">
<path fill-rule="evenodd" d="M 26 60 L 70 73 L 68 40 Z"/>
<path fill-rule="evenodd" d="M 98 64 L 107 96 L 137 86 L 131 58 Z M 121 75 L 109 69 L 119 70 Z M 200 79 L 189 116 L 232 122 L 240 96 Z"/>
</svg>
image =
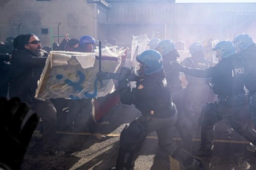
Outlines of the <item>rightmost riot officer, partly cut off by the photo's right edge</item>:
<svg viewBox="0 0 256 170">
<path fill-rule="evenodd" d="M 242 59 L 245 68 L 245 87 L 248 89 L 251 97 L 249 102 L 249 112 L 251 120 L 256 128 L 256 45 L 248 34 L 238 35 L 234 44 L 238 55 Z M 247 150 L 255 151 L 255 146 L 248 146 Z"/>
</svg>

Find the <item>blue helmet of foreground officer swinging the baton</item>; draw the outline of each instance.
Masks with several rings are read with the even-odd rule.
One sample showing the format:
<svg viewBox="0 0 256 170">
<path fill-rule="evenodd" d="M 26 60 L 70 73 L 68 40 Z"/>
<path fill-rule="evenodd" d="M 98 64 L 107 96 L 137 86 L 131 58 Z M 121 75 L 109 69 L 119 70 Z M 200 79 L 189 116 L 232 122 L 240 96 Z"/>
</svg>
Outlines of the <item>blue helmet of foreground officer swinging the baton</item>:
<svg viewBox="0 0 256 170">
<path fill-rule="evenodd" d="M 163 58 L 158 51 L 143 51 L 136 57 L 136 60 L 142 64 L 140 69 L 142 69 L 143 73 L 146 75 L 157 73 L 163 69 Z M 139 76 L 142 75 L 140 74 Z"/>
</svg>

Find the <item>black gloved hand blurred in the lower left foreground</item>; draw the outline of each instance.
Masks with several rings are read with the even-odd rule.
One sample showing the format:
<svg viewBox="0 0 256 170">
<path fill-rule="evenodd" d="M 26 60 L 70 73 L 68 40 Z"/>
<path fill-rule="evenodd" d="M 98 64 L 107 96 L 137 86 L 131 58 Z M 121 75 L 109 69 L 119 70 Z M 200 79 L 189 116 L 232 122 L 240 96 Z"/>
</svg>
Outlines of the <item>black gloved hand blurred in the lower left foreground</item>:
<svg viewBox="0 0 256 170">
<path fill-rule="evenodd" d="M 0 97 L 0 108 L 0 164 L 10 169 L 20 169 L 39 118 L 34 113 L 21 128 L 29 108 L 18 97 L 9 101 Z"/>
</svg>

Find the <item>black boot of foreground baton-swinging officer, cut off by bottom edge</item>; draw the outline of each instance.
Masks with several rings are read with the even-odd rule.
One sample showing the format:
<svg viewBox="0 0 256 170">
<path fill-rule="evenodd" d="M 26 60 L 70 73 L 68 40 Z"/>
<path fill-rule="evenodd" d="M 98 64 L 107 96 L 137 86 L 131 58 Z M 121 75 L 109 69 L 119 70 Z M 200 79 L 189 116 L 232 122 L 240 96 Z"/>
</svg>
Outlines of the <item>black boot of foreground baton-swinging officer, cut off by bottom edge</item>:
<svg viewBox="0 0 256 170">
<path fill-rule="evenodd" d="M 131 168 L 133 160 L 134 150 L 123 150 L 119 148 L 119 153 L 117 157 L 116 170 L 129 170 Z M 112 168 L 113 169 L 113 168 Z"/>
</svg>

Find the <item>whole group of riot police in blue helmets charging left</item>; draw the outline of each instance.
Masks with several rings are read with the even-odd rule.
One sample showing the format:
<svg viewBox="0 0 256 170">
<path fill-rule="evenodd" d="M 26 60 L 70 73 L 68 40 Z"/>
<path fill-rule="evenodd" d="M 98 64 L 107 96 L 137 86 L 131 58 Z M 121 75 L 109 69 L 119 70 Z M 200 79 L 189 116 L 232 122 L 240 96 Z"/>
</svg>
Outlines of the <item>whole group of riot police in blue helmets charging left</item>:
<svg viewBox="0 0 256 170">
<path fill-rule="evenodd" d="M 242 123 L 246 90 L 256 127 L 256 45 L 251 36 L 241 34 L 234 42 L 217 43 L 213 51 L 219 62 L 215 65 L 205 58 L 200 42 L 190 45 L 191 55 L 181 62 L 178 46 L 184 49 L 182 42 L 175 46 L 170 39 L 151 39 L 150 50 L 136 56 L 139 68 L 132 71 L 123 66 L 120 73 L 97 74 L 98 80 L 117 79 L 121 102 L 134 104 L 142 114 L 121 132 L 116 167 L 112 169 L 132 168 L 135 148 L 156 131 L 159 146 L 169 155 L 187 169 L 203 170 L 203 162 L 194 156 L 212 156 L 214 125 L 225 118 L 238 134 L 256 145 L 256 131 Z M 186 88 L 181 85 L 180 72 L 186 76 Z M 136 88 L 131 89 L 132 81 Z M 199 150 L 192 145 L 191 124 L 195 123 L 201 127 Z M 181 146 L 173 140 L 174 128 L 183 141 Z"/>
</svg>

